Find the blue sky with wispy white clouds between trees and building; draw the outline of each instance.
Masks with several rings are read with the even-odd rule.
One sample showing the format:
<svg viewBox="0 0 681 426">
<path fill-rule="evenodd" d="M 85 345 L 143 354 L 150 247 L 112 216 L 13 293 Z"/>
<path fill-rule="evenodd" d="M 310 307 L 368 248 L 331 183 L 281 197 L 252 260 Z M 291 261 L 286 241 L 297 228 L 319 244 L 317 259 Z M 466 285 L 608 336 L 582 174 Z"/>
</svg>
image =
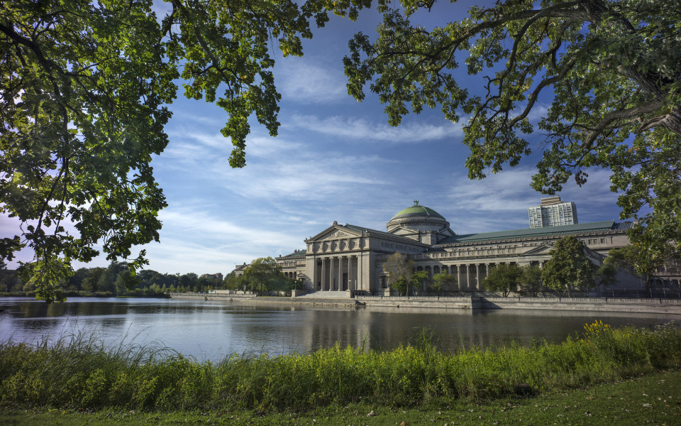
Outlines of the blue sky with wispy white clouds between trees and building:
<svg viewBox="0 0 681 426">
<path fill-rule="evenodd" d="M 438 17 L 459 13 L 445 6 L 448 13 L 436 4 L 419 20 L 431 26 Z M 391 127 L 375 97 L 358 103 L 347 94 L 342 65 L 347 41 L 356 31 L 375 33 L 379 21 L 374 12 L 360 14 L 355 23 L 334 18 L 306 40 L 303 58 L 272 51 L 282 126 L 272 138 L 252 121 L 243 169 L 228 165 L 231 143 L 219 132 L 226 113 L 178 97 L 166 127 L 170 143 L 152 163 L 169 206 L 160 212 L 160 243 L 144 247 L 147 268 L 228 273 L 253 258 L 304 249 L 304 239 L 333 221 L 384 230 L 413 200 L 442 214 L 458 234 L 528 227 L 527 207 L 542 197 L 529 187 L 533 159 L 470 181 L 460 124 L 426 109 Z M 475 90 L 481 81 L 471 77 L 466 84 Z M 539 105 L 536 119 L 549 102 Z M 577 203 L 580 222 L 619 220 L 608 176 L 607 170 L 591 170 L 587 185 L 571 181 L 560 193 Z M 0 231 L 13 235 L 16 229 L 4 218 Z M 101 256 L 77 267 L 106 263 Z"/>
</svg>

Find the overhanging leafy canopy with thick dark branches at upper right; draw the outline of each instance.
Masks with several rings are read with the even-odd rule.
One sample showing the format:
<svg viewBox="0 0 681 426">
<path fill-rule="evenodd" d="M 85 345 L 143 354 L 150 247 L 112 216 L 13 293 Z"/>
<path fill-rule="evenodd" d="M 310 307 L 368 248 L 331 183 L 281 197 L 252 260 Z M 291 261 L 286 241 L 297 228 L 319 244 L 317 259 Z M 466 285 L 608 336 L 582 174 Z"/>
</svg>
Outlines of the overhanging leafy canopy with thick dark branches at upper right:
<svg viewBox="0 0 681 426">
<path fill-rule="evenodd" d="M 553 194 L 589 168 L 611 171 L 621 218 L 643 256 L 681 244 L 681 13 L 678 0 L 499 0 L 426 29 L 434 0 L 380 2 L 377 39 L 359 33 L 345 60 L 348 91 L 385 104 L 389 123 L 441 107 L 465 120 L 470 178 L 539 151 L 531 186 Z M 482 74 L 482 94 L 455 75 Z M 546 111 L 541 97 L 553 97 Z M 531 114 L 541 114 L 533 124 Z M 532 146 L 528 135 L 541 132 Z M 536 138 L 536 136 L 535 136 Z"/>
</svg>

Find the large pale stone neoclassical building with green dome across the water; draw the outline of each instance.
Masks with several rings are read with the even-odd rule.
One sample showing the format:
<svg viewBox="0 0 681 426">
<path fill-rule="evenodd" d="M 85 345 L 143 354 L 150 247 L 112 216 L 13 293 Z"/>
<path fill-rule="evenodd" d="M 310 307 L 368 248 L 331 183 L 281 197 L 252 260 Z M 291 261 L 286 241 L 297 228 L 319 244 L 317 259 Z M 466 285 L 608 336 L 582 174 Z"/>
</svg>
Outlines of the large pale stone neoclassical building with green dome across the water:
<svg viewBox="0 0 681 426">
<path fill-rule="evenodd" d="M 428 271 L 429 276 L 448 272 L 460 290 L 475 292 L 489 268 L 499 263 L 541 267 L 550 259 L 555 242 L 566 235 L 584 241 L 588 256 L 600 263 L 609 249 L 629 244 L 626 230 L 631 226 L 631 222 L 609 220 L 455 234 L 441 214 L 416 201 L 397 212 L 385 231 L 333 222 L 306 239 L 304 250 L 276 260 L 285 275 L 301 279 L 307 290 L 391 295 L 383 264 L 392 253 L 404 253 L 415 261 L 418 271 Z M 245 267 L 238 267 L 237 273 Z M 629 288 L 642 285 L 631 280 L 623 284 Z"/>
</svg>

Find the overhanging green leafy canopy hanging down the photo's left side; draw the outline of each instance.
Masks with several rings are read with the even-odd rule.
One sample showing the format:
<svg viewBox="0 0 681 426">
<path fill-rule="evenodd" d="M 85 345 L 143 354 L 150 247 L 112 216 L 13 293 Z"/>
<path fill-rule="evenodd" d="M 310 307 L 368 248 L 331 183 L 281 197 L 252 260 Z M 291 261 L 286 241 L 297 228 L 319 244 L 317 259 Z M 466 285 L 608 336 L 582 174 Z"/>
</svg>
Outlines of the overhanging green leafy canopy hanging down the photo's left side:
<svg viewBox="0 0 681 426">
<path fill-rule="evenodd" d="M 111 261 L 158 240 L 166 206 L 150 167 L 168 143 L 167 105 L 206 99 L 245 165 L 248 119 L 275 136 L 280 95 L 271 49 L 301 55 L 328 13 L 355 18 L 368 0 L 0 1 L 0 212 L 21 231 L 0 258 L 21 265 L 37 297 L 60 300 L 71 263 Z M 156 9 L 157 10 L 157 9 Z M 145 253 L 128 261 L 134 272 Z"/>
</svg>

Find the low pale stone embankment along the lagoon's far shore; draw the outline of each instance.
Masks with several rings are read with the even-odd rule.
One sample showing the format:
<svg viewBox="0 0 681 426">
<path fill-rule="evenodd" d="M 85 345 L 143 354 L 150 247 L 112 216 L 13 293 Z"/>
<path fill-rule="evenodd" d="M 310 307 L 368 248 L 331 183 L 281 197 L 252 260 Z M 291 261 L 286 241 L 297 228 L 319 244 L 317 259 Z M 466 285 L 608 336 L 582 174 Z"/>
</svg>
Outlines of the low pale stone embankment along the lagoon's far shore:
<svg viewBox="0 0 681 426">
<path fill-rule="evenodd" d="M 314 305 L 338 307 L 421 307 L 450 310 L 564 310 L 681 315 L 681 300 L 621 297 L 256 297 L 255 295 L 177 293 L 171 299 L 212 300 L 243 304 Z"/>
</svg>

